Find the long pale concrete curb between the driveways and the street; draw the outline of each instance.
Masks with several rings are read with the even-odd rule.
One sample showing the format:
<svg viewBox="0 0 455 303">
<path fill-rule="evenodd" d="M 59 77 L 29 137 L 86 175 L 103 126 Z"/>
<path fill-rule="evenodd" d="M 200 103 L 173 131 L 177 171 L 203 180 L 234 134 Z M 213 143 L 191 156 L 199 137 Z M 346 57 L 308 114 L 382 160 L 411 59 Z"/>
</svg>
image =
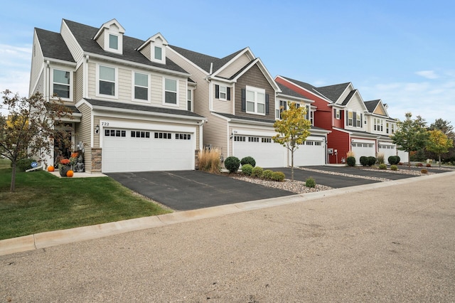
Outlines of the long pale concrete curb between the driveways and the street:
<svg viewBox="0 0 455 303">
<path fill-rule="evenodd" d="M 232 213 L 240 213 L 242 211 L 253 211 L 260 208 L 282 206 L 290 203 L 301 203 L 304 201 L 321 199 L 328 196 L 343 195 L 346 193 L 355 193 L 358 191 L 365 191 L 368 189 L 383 188 L 387 186 L 399 186 L 402 184 L 409 184 L 415 181 L 422 181 L 422 178 L 425 178 L 427 180 L 444 178 L 449 174 L 455 174 L 455 171 L 442 174 L 421 176 L 421 178 L 419 177 L 408 178 L 395 181 L 378 182 L 375 184 L 352 186 L 348 188 L 336 188 L 331 189 L 329 191 L 317 191 L 314 193 L 304 193 L 294 196 L 284 196 L 279 198 L 269 198 L 264 200 L 227 204 L 223 206 L 201 208 L 192 211 L 181 211 L 159 216 L 135 218 L 111 223 L 84 226 L 80 228 L 70 228 L 67 230 L 55 230 L 45 233 L 36 233 L 34 235 L 25 235 L 23 237 L 0 240 L 0 256 L 9 255 L 16 252 L 25 252 L 28 250 L 48 248 L 55 245 L 68 244 L 85 240 L 93 240 L 97 238 L 107 237 L 109 235 L 129 233 L 135 230 L 156 228 L 165 225 L 183 223 L 193 220 L 225 216 Z"/>
</svg>

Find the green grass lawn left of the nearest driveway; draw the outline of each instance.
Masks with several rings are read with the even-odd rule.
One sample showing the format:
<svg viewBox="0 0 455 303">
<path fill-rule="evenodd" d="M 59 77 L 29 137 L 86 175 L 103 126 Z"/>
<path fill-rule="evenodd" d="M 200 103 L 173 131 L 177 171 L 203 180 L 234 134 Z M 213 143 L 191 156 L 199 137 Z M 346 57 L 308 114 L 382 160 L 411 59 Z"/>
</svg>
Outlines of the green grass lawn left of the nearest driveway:
<svg viewBox="0 0 455 303">
<path fill-rule="evenodd" d="M 16 174 L 0 159 L 0 240 L 169 213 L 109 177 L 57 178 L 47 171 Z"/>
</svg>

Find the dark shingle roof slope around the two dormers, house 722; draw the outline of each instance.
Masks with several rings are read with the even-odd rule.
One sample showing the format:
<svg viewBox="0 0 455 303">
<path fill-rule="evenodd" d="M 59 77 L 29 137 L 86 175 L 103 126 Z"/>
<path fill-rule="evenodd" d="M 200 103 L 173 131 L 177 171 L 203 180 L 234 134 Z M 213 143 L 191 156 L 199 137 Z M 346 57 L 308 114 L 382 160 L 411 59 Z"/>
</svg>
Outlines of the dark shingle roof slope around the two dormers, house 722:
<svg viewBox="0 0 455 303">
<path fill-rule="evenodd" d="M 79 43 L 82 50 L 84 50 L 87 53 L 105 55 L 107 57 L 127 60 L 134 63 L 151 65 L 156 68 L 164 68 L 167 70 L 173 70 L 180 73 L 187 73 L 186 70 L 183 70 L 183 68 L 178 66 L 176 63 L 173 63 L 173 61 L 170 60 L 169 58 L 166 58 L 166 64 L 155 63 L 147 59 L 138 50 L 136 50 L 145 41 L 142 41 L 137 38 L 132 38 L 129 36 L 123 36 L 123 54 L 121 55 L 117 53 L 111 53 L 106 50 L 103 50 L 102 47 L 97 43 L 97 41 L 92 39 L 99 30 L 99 28 L 87 26 L 85 24 L 65 19 L 64 22 L 68 25 L 68 28 L 70 28 L 71 33 L 73 33 L 73 36 L 75 37 L 77 43 Z"/>
</svg>

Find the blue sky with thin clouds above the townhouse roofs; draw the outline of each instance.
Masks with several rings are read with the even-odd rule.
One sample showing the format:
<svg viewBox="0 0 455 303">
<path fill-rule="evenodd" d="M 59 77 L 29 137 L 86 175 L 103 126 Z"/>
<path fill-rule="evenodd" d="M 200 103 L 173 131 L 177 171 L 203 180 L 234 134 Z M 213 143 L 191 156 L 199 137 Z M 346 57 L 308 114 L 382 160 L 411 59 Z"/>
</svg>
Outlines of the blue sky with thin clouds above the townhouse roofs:
<svg viewBox="0 0 455 303">
<path fill-rule="evenodd" d="M 15 2 L 15 3 L 13 3 Z M 63 18 L 126 34 L 162 33 L 222 58 L 249 46 L 269 73 L 315 86 L 353 83 L 389 115 L 455 122 L 455 1 L 8 1 L 0 12 L 0 90 L 28 95 L 33 28 Z"/>
</svg>

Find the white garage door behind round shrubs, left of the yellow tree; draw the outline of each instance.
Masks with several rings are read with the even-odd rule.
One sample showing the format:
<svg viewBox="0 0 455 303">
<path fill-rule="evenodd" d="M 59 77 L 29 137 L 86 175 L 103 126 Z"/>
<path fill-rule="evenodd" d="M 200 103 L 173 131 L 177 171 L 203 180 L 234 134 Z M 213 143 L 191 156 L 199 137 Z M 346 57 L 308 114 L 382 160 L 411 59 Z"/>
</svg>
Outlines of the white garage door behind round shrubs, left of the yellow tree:
<svg viewBox="0 0 455 303">
<path fill-rule="evenodd" d="M 274 143 L 270 137 L 235 136 L 232 154 L 238 159 L 252 156 L 257 166 L 284 167 L 286 166 L 286 149 Z"/>
</svg>

